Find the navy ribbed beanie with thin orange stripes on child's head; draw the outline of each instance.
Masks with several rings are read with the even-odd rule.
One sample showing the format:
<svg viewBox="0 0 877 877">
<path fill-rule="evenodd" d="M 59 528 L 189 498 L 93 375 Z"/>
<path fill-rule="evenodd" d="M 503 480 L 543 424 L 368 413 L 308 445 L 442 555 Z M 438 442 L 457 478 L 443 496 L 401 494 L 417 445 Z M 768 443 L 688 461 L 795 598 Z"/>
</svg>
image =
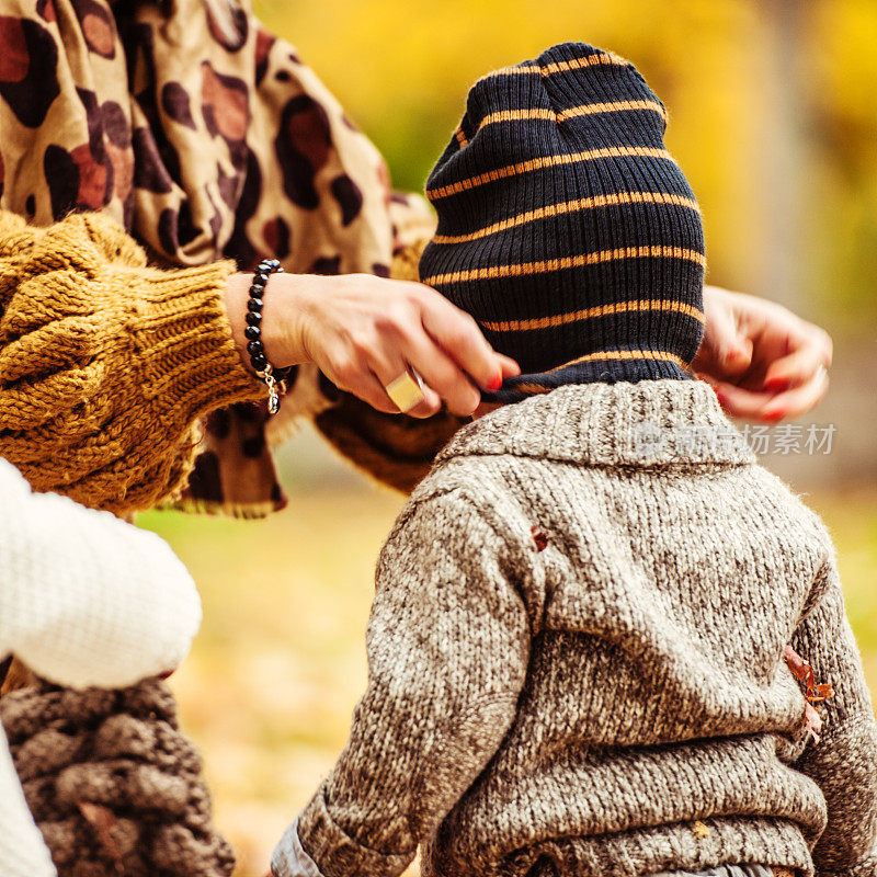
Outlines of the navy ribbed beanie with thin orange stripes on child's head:
<svg viewBox="0 0 877 877">
<path fill-rule="evenodd" d="M 497 70 L 426 183 L 434 286 L 521 364 L 492 397 L 691 376 L 703 334 L 704 230 L 637 69 L 565 43 Z"/>
</svg>

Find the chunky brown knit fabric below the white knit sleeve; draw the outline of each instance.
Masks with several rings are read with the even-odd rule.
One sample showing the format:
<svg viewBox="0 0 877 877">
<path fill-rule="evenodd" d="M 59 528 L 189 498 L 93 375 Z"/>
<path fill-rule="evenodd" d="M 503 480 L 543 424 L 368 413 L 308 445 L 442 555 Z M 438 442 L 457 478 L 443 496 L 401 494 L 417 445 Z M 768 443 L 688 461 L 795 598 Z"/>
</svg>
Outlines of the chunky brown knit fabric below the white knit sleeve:
<svg viewBox="0 0 877 877">
<path fill-rule="evenodd" d="M 170 690 L 73 692 L 45 682 L 0 701 L 27 805 L 59 877 L 228 877 L 201 759 Z"/>
</svg>

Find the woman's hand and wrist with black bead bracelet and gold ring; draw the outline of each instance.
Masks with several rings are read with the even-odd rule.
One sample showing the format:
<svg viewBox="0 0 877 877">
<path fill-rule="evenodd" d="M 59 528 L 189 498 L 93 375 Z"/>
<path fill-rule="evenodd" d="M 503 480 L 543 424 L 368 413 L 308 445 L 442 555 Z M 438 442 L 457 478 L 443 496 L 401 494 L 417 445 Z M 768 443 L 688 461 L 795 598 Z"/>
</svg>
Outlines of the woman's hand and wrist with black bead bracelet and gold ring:
<svg viewBox="0 0 877 877">
<path fill-rule="evenodd" d="M 235 274 L 226 307 L 244 362 L 244 314 L 251 274 Z M 471 414 L 479 387 L 496 390 L 520 373 L 496 353 L 476 321 L 419 283 L 371 274 L 272 274 L 264 296 L 262 340 L 277 367 L 314 362 L 338 387 L 387 413 L 399 413 L 385 391 L 408 368 L 423 378 L 424 400 L 407 413 L 434 414 L 442 400 Z"/>
</svg>

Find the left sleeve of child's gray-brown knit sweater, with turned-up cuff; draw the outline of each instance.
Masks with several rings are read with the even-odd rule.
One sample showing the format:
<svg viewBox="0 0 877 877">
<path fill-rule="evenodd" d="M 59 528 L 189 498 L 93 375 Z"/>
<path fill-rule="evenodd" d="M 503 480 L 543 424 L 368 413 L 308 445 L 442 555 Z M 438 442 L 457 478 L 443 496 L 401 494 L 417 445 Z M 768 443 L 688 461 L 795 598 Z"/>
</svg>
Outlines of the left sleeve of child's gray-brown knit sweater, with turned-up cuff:
<svg viewBox="0 0 877 877">
<path fill-rule="evenodd" d="M 504 540 L 456 493 L 417 504 L 377 570 L 368 688 L 329 777 L 275 850 L 276 877 L 395 877 L 494 754 L 529 625 Z"/>
</svg>

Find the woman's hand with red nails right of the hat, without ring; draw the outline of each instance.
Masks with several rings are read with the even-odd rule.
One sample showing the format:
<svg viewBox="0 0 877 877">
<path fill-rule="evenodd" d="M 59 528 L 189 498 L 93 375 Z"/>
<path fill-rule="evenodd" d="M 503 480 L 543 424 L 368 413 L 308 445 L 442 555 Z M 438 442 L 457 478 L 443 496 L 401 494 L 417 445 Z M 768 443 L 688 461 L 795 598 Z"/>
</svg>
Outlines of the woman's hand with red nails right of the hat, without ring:
<svg viewBox="0 0 877 877">
<path fill-rule="evenodd" d="M 704 288 L 706 327 L 692 367 L 734 417 L 776 422 L 825 395 L 831 338 L 790 310 L 718 286 Z"/>
</svg>

